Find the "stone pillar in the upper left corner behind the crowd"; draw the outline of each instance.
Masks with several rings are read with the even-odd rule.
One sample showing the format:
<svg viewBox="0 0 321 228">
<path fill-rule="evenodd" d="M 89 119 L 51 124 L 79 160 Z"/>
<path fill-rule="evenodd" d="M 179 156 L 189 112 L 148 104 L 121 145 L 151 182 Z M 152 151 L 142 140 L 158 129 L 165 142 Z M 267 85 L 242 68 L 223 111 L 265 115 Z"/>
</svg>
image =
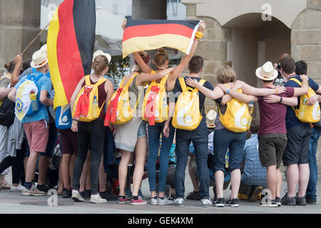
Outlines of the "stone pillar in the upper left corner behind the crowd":
<svg viewBox="0 0 321 228">
<path fill-rule="evenodd" d="M 40 31 L 41 0 L 0 1 L 0 73 L 4 63 L 28 46 Z M 24 53 L 24 60 L 31 58 L 40 48 L 39 38 Z"/>
</svg>

